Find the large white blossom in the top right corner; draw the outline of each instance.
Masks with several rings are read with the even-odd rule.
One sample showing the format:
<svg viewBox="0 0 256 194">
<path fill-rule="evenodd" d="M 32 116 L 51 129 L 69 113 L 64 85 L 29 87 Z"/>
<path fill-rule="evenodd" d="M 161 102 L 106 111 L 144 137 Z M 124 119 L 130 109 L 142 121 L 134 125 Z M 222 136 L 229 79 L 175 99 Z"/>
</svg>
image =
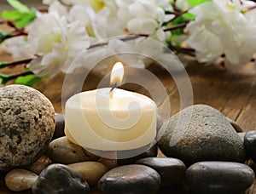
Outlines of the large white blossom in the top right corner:
<svg viewBox="0 0 256 194">
<path fill-rule="evenodd" d="M 227 64 L 247 63 L 256 53 L 255 11 L 242 12 L 253 5 L 245 0 L 213 0 L 191 9 L 196 19 L 188 25 L 188 43 L 197 60 L 212 62 L 225 54 Z"/>
</svg>

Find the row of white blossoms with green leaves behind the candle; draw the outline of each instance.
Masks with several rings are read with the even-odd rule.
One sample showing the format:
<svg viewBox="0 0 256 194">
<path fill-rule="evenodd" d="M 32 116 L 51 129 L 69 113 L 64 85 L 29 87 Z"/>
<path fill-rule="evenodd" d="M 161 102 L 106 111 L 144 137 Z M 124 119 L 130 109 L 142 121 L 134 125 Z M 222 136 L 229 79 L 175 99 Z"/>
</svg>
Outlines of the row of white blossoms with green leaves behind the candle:
<svg viewBox="0 0 256 194">
<path fill-rule="evenodd" d="M 38 77 L 72 72 L 77 67 L 72 61 L 82 51 L 86 63 L 80 64 L 125 51 L 165 59 L 163 47 L 146 45 L 147 38 L 203 63 L 224 56 L 226 65 L 238 66 L 256 54 L 256 3 L 249 0 L 43 0 L 46 11 L 9 3 L 22 15 L 15 24 L 20 36 L 2 32 L 3 48 L 15 60 L 31 59 L 27 67 Z M 24 14 L 31 19 L 25 24 Z M 10 13 L 2 16 L 13 19 Z M 142 57 L 120 60 L 144 66 Z"/>
</svg>

